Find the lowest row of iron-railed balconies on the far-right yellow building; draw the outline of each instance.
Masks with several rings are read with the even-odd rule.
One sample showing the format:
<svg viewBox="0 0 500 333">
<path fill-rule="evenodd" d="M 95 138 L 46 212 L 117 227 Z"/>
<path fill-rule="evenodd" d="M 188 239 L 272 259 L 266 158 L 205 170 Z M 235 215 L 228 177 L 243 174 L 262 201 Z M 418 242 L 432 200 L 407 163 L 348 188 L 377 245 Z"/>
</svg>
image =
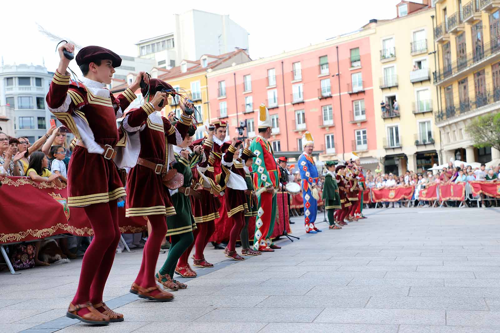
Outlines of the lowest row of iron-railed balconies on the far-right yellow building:
<svg viewBox="0 0 500 333">
<path fill-rule="evenodd" d="M 444 120 L 452 119 L 455 116 L 466 114 L 481 107 L 488 107 L 493 103 L 500 101 L 500 87 L 491 90 L 485 90 L 481 94 L 477 94 L 474 98 L 463 98 L 456 105 L 448 105 L 444 110 L 434 112 L 436 124 Z"/>
</svg>

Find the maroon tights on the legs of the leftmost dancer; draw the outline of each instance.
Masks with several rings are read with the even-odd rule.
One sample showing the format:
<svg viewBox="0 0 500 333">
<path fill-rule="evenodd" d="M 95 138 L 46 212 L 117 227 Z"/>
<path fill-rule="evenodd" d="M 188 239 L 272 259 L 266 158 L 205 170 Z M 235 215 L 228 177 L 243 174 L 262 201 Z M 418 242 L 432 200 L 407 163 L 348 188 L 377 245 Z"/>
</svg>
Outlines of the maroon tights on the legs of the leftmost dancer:
<svg viewBox="0 0 500 333">
<path fill-rule="evenodd" d="M 108 203 L 93 204 L 83 207 L 94 237 L 90 242 L 81 262 L 80 280 L 73 305 L 102 302 L 102 293 L 107 277 L 113 265 L 116 246 L 120 240 L 118 228 L 118 206 L 116 200 Z M 79 314 L 88 312 L 86 309 Z"/>
</svg>

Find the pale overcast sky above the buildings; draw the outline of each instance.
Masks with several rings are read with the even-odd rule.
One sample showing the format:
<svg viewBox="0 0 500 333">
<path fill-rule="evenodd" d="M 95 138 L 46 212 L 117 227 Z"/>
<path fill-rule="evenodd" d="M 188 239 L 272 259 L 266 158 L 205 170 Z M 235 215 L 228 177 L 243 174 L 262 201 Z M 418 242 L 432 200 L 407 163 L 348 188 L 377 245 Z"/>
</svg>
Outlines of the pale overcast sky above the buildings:
<svg viewBox="0 0 500 333">
<path fill-rule="evenodd" d="M 257 59 L 354 31 L 371 18 L 393 18 L 400 0 L 2 2 L 4 63 L 41 64 L 44 58 L 47 69 L 54 70 L 56 43 L 40 34 L 36 23 L 81 46 L 100 45 L 137 56 L 134 43 L 172 32 L 173 14 L 194 8 L 228 14 L 248 31 L 250 57 Z"/>
</svg>

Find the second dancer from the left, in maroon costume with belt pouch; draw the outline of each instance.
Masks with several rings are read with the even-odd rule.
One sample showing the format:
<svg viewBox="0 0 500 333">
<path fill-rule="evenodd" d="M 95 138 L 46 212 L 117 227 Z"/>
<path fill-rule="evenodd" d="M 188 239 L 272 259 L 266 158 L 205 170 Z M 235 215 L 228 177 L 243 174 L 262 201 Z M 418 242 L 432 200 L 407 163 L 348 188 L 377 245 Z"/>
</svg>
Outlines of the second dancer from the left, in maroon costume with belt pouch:
<svg viewBox="0 0 500 333">
<path fill-rule="evenodd" d="M 165 216 L 175 215 L 168 189 L 162 183 L 162 175 L 167 170 L 169 145 L 176 145 L 186 135 L 191 118 L 182 114 L 181 120 L 172 126 L 170 121 L 154 111 L 160 111 L 166 103 L 165 89 L 173 89 L 168 83 L 151 79 L 142 95 L 149 96 L 139 108 L 128 111 L 121 126 L 131 134 L 139 136 L 140 152 L 137 165 L 127 176 L 128 196 L 126 197 L 125 216 L 147 216 L 151 225 L 151 233 L 142 252 L 142 263 L 130 292 L 140 298 L 167 302 L 173 295 L 164 292 L 156 285 L 154 273 L 161 242 L 167 228 Z M 173 91 L 173 90 L 171 90 Z M 154 97 L 153 97 L 154 96 Z M 162 106 L 158 103 L 163 101 Z M 181 102 L 182 111 L 190 108 L 189 102 Z M 180 140 L 180 141 L 179 141 Z M 167 145 L 169 144 L 169 145 Z"/>
</svg>

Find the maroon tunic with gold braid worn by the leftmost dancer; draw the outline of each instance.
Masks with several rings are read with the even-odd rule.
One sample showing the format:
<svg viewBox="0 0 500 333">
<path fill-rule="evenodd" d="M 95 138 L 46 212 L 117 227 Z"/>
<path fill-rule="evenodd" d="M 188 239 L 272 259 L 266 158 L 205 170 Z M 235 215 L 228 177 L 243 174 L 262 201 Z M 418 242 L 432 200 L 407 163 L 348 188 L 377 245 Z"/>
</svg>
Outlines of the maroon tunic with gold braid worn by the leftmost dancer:
<svg viewBox="0 0 500 333">
<path fill-rule="evenodd" d="M 103 84 L 88 79 L 83 81 L 94 82 L 96 86 L 70 82 L 69 75 L 56 71 L 46 96 L 47 106 L 57 119 L 78 140 L 83 135 L 83 141 L 94 144 L 92 151 L 95 153 L 89 152 L 88 146 L 78 145 L 71 155 L 67 172 L 69 207 L 106 203 L 126 195 L 116 166 L 102 155 L 104 149 L 95 147 L 95 143 L 111 147 L 125 145 L 126 133 L 118 131 L 116 118 L 135 99 L 135 94 L 127 88 L 114 97 L 109 91 L 104 91 L 107 89 Z M 92 91 L 104 91 L 105 96 Z M 84 131 L 83 127 L 89 130 Z M 91 136 L 95 142 L 88 139 Z M 91 169 L 87 170 L 85 166 Z"/>
</svg>

